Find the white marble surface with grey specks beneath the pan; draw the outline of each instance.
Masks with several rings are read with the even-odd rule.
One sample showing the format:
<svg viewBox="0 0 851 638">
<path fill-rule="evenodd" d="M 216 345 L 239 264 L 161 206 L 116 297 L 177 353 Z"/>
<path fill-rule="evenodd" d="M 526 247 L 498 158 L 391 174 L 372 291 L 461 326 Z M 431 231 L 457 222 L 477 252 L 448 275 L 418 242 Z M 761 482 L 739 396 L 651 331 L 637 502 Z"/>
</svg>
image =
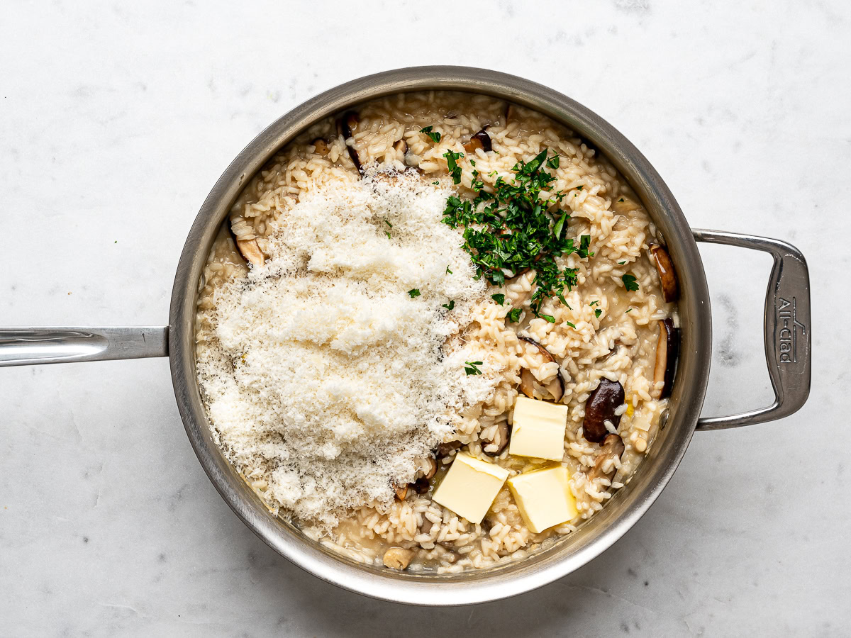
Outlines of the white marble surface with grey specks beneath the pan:
<svg viewBox="0 0 851 638">
<path fill-rule="evenodd" d="M 191 220 L 254 134 L 337 83 L 425 63 L 588 105 L 692 225 L 802 248 L 816 317 L 800 413 L 695 436 L 614 548 L 460 609 L 367 600 L 254 538 L 191 452 L 166 360 L 3 368 L 0 635 L 848 635 L 845 0 L 8 0 L 0 16 L 0 325 L 165 322 Z M 768 261 L 703 253 L 705 412 L 768 402 Z"/>
</svg>

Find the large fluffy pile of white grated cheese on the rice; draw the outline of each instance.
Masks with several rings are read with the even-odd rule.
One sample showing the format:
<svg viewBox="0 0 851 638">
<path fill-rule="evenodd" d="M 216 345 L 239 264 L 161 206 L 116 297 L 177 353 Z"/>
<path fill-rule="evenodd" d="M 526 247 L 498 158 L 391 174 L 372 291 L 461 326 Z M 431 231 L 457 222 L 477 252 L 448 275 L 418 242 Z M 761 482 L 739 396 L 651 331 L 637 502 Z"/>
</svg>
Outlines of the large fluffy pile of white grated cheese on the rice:
<svg viewBox="0 0 851 638">
<path fill-rule="evenodd" d="M 409 173 L 306 194 L 271 229 L 266 265 L 216 293 L 197 365 L 214 435 L 301 521 L 389 504 L 494 391 L 444 347 L 487 299 L 441 221 L 451 194 Z"/>
</svg>

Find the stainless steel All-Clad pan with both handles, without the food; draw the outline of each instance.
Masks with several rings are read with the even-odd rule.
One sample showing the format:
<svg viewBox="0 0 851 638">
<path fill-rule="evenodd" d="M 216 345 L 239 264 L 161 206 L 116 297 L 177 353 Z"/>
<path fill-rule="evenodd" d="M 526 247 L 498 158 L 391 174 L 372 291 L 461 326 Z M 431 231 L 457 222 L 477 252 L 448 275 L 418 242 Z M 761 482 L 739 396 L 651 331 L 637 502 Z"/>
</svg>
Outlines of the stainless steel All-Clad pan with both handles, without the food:
<svg viewBox="0 0 851 638">
<path fill-rule="evenodd" d="M 275 518 L 212 441 L 195 375 L 194 316 L 204 261 L 239 191 L 271 156 L 312 123 L 366 100 L 403 91 L 453 89 L 492 95 L 541 111 L 590 140 L 625 175 L 668 245 L 679 275 L 683 346 L 671 407 L 648 458 L 631 481 L 576 533 L 524 561 L 453 575 L 363 567 L 334 554 Z M 711 310 L 696 242 L 770 253 L 765 355 L 775 400 L 768 407 L 700 419 L 711 363 Z M 573 572 L 606 550 L 648 510 L 677 469 L 694 430 L 781 419 L 806 401 L 810 383 L 809 280 L 802 254 L 785 242 L 728 232 L 694 231 L 649 162 L 614 127 L 550 88 L 495 71 L 421 66 L 362 77 L 296 107 L 266 128 L 210 191 L 192 225 L 174 276 L 168 326 L 150 328 L 0 329 L 0 366 L 169 356 L 174 396 L 198 460 L 216 489 L 254 533 L 279 554 L 328 582 L 364 595 L 419 605 L 464 605 L 533 590 Z"/>
</svg>

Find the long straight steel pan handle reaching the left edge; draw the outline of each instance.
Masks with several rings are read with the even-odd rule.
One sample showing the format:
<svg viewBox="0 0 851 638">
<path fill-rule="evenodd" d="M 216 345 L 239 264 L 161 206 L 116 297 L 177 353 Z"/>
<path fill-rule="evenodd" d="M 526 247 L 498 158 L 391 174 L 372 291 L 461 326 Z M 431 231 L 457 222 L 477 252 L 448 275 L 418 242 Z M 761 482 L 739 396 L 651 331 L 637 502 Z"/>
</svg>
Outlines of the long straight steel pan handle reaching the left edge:
<svg viewBox="0 0 851 638">
<path fill-rule="evenodd" d="M 0 367 L 168 356 L 168 326 L 0 328 Z"/>
</svg>

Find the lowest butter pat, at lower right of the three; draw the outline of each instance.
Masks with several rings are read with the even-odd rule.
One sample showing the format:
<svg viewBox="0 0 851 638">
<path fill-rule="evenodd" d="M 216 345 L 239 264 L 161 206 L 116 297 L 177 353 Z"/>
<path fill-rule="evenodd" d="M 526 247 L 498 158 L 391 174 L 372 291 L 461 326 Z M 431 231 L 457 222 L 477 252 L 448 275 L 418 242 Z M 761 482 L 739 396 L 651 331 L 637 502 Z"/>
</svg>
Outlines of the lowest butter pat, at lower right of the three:
<svg viewBox="0 0 851 638">
<path fill-rule="evenodd" d="M 508 480 L 523 521 L 534 533 L 572 521 L 578 514 L 569 480 L 568 469 L 561 465 L 525 472 Z"/>
</svg>

